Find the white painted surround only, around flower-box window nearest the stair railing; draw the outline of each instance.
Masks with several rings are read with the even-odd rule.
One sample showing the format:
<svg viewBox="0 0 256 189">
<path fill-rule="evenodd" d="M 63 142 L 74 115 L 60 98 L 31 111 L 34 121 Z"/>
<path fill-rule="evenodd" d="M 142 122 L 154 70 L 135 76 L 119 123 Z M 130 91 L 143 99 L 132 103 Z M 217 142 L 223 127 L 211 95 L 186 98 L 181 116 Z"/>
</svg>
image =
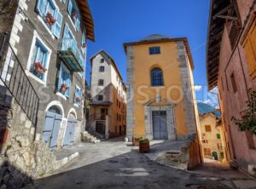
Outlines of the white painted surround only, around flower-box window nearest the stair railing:
<svg viewBox="0 0 256 189">
<path fill-rule="evenodd" d="M 32 66 L 32 54 L 33 54 L 33 49 L 37 43 L 37 41 L 39 41 L 40 43 L 42 43 L 42 45 L 44 45 L 44 48 L 47 49 L 48 51 L 48 55 L 46 58 L 46 63 L 45 63 L 45 73 L 44 73 L 44 79 L 40 79 L 39 77 L 36 77 L 34 74 L 32 74 L 32 72 L 30 72 L 31 66 Z M 49 71 L 49 60 L 50 60 L 50 56 L 52 54 L 52 50 L 49 49 L 49 47 L 46 45 L 46 43 L 44 43 L 43 39 L 38 35 L 37 31 L 33 31 L 33 38 L 32 38 L 32 44 L 31 44 L 31 48 L 30 48 L 30 53 L 28 56 L 28 60 L 27 60 L 27 65 L 26 65 L 26 75 L 29 77 L 32 77 L 33 79 L 35 79 L 36 81 L 38 81 L 38 83 L 44 84 L 44 86 L 46 86 L 46 82 L 47 82 L 47 77 L 48 77 L 48 71 Z"/>
</svg>

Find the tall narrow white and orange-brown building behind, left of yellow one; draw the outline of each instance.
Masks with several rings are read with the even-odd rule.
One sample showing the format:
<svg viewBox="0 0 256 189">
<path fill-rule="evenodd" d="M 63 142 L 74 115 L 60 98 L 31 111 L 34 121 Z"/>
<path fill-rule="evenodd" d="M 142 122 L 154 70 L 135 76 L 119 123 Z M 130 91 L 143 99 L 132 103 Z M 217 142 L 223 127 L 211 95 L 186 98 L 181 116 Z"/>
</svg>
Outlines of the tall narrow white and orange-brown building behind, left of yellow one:
<svg viewBox="0 0 256 189">
<path fill-rule="evenodd" d="M 103 50 L 90 60 L 90 129 L 106 138 L 125 135 L 126 88 L 118 68 Z"/>
</svg>

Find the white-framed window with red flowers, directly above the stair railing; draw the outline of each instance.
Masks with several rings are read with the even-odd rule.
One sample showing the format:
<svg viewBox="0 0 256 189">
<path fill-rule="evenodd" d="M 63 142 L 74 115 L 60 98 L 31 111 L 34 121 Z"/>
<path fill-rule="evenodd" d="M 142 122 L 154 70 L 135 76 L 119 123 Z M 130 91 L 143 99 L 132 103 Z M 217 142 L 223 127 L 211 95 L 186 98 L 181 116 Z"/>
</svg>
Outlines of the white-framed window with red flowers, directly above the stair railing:
<svg viewBox="0 0 256 189">
<path fill-rule="evenodd" d="M 47 80 L 51 52 L 51 49 L 39 37 L 37 31 L 34 31 L 27 60 L 26 74 L 44 85 Z"/>
</svg>

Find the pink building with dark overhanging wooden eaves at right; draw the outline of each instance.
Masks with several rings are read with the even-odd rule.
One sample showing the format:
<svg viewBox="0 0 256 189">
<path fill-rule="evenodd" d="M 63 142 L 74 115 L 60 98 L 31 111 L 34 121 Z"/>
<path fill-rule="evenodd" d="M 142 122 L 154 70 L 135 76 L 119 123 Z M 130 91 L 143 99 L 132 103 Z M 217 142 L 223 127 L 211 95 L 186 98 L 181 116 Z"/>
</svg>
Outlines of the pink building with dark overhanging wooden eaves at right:
<svg viewBox="0 0 256 189">
<path fill-rule="evenodd" d="M 248 89 L 256 89 L 255 4 L 212 0 L 207 39 L 208 88 L 218 86 L 228 159 L 250 173 L 256 166 L 256 136 L 239 131 L 231 117 L 241 118 Z"/>
</svg>

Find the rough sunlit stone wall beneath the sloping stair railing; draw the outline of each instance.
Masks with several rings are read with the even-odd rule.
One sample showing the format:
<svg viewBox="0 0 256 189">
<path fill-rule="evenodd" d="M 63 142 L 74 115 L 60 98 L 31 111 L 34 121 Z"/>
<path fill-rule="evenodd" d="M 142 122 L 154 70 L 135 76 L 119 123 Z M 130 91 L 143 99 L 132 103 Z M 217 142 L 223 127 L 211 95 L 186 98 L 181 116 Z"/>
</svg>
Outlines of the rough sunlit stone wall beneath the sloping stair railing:
<svg viewBox="0 0 256 189">
<path fill-rule="evenodd" d="M 3 188 L 20 188 L 27 181 L 58 168 L 55 155 L 42 140 L 34 140 L 34 126 L 13 101 L 1 89 L 0 129 L 9 131 L 0 156 L 0 186 Z"/>
</svg>

